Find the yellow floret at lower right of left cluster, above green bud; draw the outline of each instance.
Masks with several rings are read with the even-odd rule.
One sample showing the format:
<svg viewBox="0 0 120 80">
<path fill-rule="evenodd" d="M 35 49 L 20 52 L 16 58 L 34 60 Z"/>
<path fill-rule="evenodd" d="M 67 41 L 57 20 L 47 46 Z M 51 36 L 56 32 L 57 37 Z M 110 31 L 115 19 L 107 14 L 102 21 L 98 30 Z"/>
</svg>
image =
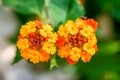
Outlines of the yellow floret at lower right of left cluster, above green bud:
<svg viewBox="0 0 120 80">
<path fill-rule="evenodd" d="M 43 50 L 45 50 L 47 53 L 53 55 L 56 52 L 55 44 L 50 42 L 45 42 L 42 47 Z"/>
</svg>

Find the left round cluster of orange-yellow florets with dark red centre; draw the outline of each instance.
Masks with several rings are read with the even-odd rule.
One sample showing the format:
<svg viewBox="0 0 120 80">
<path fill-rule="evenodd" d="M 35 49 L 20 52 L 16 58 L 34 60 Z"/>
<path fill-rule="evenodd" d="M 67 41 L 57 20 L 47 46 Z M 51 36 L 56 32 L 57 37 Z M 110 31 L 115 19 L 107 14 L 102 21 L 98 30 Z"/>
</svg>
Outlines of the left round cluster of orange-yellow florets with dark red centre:
<svg viewBox="0 0 120 80">
<path fill-rule="evenodd" d="M 30 21 L 22 25 L 17 46 L 25 60 L 33 63 L 48 62 L 51 55 L 56 53 L 57 36 L 50 25 Z"/>
</svg>

